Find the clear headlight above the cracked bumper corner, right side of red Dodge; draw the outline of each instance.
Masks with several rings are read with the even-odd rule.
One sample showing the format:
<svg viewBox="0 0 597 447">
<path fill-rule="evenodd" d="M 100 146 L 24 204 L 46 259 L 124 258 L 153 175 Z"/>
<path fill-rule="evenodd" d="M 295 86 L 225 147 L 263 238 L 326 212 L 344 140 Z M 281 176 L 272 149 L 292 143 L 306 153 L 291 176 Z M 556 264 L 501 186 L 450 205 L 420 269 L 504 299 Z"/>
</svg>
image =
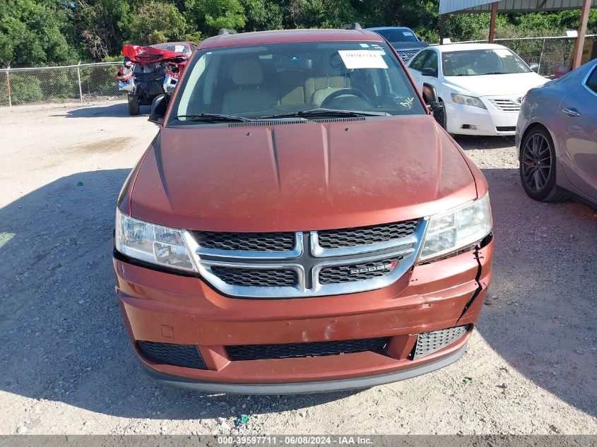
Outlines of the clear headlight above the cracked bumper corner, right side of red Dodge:
<svg viewBox="0 0 597 447">
<path fill-rule="evenodd" d="M 433 215 L 419 254 L 419 261 L 435 258 L 475 244 L 492 228 L 489 193 L 448 213 Z"/>
</svg>

